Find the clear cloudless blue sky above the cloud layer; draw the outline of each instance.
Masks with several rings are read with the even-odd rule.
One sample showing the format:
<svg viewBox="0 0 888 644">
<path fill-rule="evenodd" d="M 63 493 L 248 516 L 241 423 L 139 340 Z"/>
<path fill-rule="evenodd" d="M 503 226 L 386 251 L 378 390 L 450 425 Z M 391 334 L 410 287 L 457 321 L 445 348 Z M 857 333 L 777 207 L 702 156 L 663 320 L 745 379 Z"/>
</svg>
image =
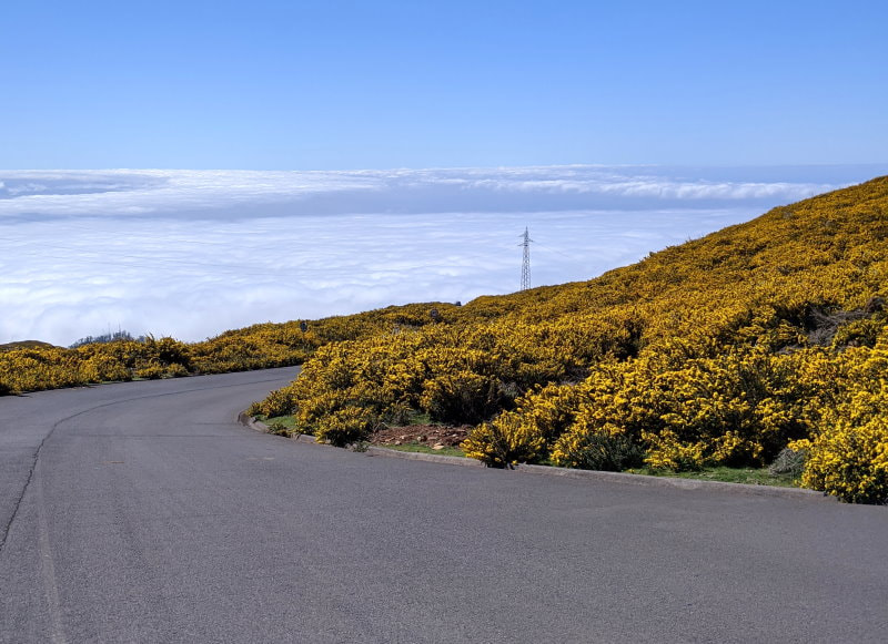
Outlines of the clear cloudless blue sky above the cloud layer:
<svg viewBox="0 0 888 644">
<path fill-rule="evenodd" d="M 0 167 L 888 161 L 884 1 L 7 0 Z"/>
</svg>

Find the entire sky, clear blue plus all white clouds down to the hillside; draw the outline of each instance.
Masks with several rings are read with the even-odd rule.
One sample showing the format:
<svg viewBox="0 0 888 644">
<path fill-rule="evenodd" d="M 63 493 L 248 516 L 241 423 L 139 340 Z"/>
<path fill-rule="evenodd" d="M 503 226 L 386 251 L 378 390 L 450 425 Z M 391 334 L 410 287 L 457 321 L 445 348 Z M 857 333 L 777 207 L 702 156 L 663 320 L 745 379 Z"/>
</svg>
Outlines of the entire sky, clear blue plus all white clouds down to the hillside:
<svg viewBox="0 0 888 644">
<path fill-rule="evenodd" d="M 0 24 L 0 343 L 509 293 L 525 226 L 534 285 L 587 279 L 888 174 L 884 0 L 6 0 Z"/>
</svg>

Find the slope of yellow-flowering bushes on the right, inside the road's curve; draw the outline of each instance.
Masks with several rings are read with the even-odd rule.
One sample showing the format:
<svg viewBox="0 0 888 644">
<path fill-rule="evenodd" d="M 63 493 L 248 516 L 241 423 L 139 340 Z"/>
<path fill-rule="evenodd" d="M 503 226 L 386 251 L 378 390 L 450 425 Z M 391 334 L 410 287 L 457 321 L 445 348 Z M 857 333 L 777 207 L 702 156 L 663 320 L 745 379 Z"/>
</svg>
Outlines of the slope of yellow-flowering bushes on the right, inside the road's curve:
<svg viewBox="0 0 888 644">
<path fill-rule="evenodd" d="M 881 177 L 597 279 L 326 344 L 254 410 L 337 444 L 417 413 L 470 422 L 466 451 L 498 467 L 761 466 L 788 448 L 805 484 L 882 502 L 887 249 Z"/>
</svg>

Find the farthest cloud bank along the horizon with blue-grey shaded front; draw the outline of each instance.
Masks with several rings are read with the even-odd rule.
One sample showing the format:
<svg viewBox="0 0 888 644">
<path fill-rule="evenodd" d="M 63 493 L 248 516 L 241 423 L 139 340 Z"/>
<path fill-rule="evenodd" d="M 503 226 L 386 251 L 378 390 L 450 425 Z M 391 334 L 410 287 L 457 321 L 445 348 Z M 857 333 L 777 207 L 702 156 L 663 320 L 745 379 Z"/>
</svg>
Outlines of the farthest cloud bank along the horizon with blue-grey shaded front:
<svg viewBox="0 0 888 644">
<path fill-rule="evenodd" d="M 496 212 L 504 194 L 529 209 L 547 209 L 553 196 L 583 197 L 571 207 L 610 207 L 619 200 L 737 202 L 751 198 L 795 201 L 833 184 L 684 180 L 648 167 L 558 166 L 351 172 L 256 171 L 80 171 L 3 172 L 7 193 L 0 219 L 44 216 L 200 214 L 224 209 L 231 216 L 290 213 L 373 213 L 473 209 Z M 597 197 L 597 198 L 596 198 Z M 616 200 L 616 202 L 614 201 Z M 509 204 L 511 205 L 511 204 Z M 636 204 L 637 206 L 637 204 Z M 367 209 L 369 208 L 369 209 Z"/>
</svg>

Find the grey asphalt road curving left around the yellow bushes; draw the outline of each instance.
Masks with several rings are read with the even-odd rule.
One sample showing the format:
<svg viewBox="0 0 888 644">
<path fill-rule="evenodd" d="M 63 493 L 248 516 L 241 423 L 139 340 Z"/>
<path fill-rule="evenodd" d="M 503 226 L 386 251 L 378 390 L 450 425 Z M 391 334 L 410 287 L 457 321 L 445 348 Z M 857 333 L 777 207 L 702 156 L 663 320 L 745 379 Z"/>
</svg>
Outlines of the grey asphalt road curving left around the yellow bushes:
<svg viewBox="0 0 888 644">
<path fill-rule="evenodd" d="M 886 642 L 888 509 L 372 457 L 294 369 L 0 398 L 0 641 Z"/>
</svg>

